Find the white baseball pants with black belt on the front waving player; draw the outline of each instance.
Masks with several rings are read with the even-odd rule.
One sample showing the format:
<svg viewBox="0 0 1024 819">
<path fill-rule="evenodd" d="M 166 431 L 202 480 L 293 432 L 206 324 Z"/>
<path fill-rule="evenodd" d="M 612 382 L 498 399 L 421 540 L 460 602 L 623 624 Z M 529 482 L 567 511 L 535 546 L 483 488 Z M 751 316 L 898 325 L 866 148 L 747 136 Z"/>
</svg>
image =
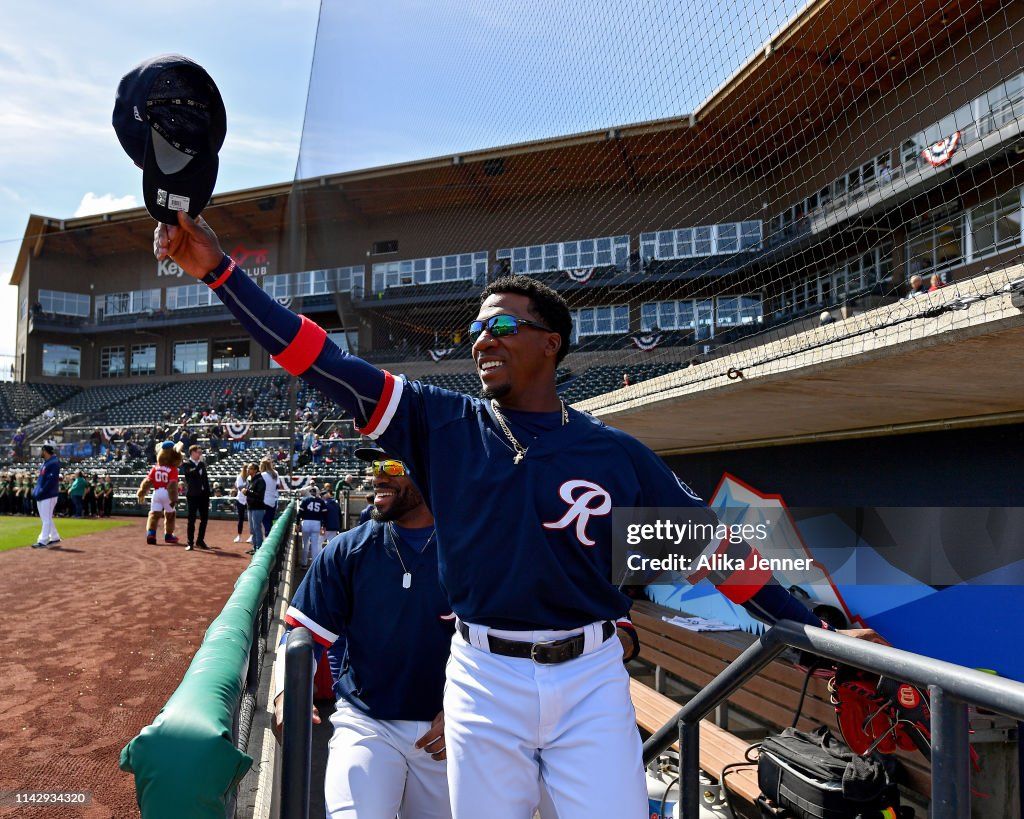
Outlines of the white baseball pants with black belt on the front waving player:
<svg viewBox="0 0 1024 819">
<path fill-rule="evenodd" d="M 545 819 L 646 819 L 640 734 L 618 640 L 600 642 L 600 623 L 592 623 L 582 656 L 541 665 L 492 654 L 488 630 L 469 628 L 472 645 L 458 632 L 452 640 L 444 687 L 455 819 L 530 819 L 539 805 Z M 490 633 L 526 642 L 574 634 Z"/>
</svg>

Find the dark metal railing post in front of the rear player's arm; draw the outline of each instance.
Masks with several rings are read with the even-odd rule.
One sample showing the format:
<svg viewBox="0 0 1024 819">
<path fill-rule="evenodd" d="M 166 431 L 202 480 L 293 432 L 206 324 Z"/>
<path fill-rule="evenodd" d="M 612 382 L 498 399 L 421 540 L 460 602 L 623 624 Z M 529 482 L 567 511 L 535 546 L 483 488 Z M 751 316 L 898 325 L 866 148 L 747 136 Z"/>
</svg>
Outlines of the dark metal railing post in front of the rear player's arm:
<svg viewBox="0 0 1024 819">
<path fill-rule="evenodd" d="M 313 640 L 307 629 L 289 633 L 285 669 L 281 819 L 307 819 L 313 709 Z"/>
</svg>

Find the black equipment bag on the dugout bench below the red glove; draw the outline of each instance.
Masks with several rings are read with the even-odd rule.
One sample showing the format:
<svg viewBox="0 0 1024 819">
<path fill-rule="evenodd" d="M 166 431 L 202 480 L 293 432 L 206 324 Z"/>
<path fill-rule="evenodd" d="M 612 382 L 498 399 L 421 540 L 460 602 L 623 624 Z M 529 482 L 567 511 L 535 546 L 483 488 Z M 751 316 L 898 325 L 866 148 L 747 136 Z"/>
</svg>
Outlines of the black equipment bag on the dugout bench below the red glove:
<svg viewBox="0 0 1024 819">
<path fill-rule="evenodd" d="M 786 728 L 769 736 L 758 759 L 762 814 L 797 819 L 889 819 L 900 816 L 892 763 L 859 757 L 826 727 Z"/>
</svg>

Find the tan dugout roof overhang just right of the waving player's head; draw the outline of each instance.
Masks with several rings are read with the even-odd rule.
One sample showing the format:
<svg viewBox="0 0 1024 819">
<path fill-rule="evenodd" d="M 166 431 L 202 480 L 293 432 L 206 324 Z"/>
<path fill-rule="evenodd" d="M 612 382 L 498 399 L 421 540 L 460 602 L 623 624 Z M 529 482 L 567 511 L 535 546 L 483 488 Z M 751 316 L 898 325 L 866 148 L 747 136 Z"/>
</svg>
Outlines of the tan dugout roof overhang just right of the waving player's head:
<svg viewBox="0 0 1024 819">
<path fill-rule="evenodd" d="M 1014 265 L 577 407 L 663 455 L 1019 423 L 1024 294 L 1001 288 L 1021 276 Z"/>
</svg>

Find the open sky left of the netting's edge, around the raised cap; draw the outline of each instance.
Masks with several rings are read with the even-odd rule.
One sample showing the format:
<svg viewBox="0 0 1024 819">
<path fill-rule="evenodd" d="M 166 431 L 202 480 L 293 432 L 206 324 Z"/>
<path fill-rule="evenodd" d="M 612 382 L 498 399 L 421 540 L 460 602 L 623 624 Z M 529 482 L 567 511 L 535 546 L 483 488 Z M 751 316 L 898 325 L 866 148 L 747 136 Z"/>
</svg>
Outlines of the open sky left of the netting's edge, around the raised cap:
<svg viewBox="0 0 1024 819">
<path fill-rule="evenodd" d="M 30 213 L 141 203 L 141 171 L 111 128 L 118 82 L 154 54 L 202 63 L 227 106 L 217 189 L 292 178 L 317 0 L 37 0 L 8 4 L 0 38 L 0 354 L 14 350 L 7 286 Z"/>
</svg>

